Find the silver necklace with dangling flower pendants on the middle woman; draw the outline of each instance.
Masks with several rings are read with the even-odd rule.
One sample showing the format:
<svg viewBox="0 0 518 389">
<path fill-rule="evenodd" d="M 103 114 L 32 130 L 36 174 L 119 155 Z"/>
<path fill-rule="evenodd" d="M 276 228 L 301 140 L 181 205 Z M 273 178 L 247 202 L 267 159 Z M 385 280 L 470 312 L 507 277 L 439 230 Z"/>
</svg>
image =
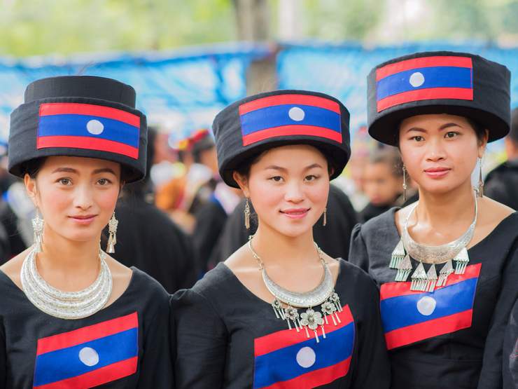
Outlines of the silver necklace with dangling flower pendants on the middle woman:
<svg viewBox="0 0 518 389">
<path fill-rule="evenodd" d="M 310 337 L 309 331 L 313 331 L 317 343 L 319 342 L 318 327 L 320 327 L 322 337 L 325 339 L 324 323 L 326 325 L 329 324 L 328 318 L 332 319 L 334 325 L 338 325 L 341 322 L 338 313 L 342 312 L 342 304 L 338 294 L 335 292 L 332 274 L 323 258 L 320 247 L 315 243 L 318 258 L 324 270 L 321 282 L 314 289 L 303 293 L 284 289 L 269 278 L 265 264 L 255 250 L 253 250 L 251 239 L 248 240 L 248 247 L 252 252 L 253 258 L 258 262 L 259 270 L 262 272 L 262 280 L 265 282 L 268 291 L 274 296 L 272 308 L 276 318 L 286 320 L 288 322 L 288 329 L 295 327 L 297 332 L 303 329 L 307 338 Z M 318 305 L 321 306 L 321 312 L 313 309 L 313 307 Z M 298 308 L 306 308 L 306 310 L 299 313 Z"/>
</svg>

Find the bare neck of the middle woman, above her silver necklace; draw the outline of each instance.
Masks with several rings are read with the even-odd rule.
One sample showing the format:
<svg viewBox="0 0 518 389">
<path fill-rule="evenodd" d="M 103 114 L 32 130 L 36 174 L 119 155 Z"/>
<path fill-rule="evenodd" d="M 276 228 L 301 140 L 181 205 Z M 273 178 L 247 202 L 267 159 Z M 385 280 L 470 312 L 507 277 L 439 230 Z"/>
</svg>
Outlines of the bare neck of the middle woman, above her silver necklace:
<svg viewBox="0 0 518 389">
<path fill-rule="evenodd" d="M 253 236 L 253 250 L 262 262 L 268 266 L 300 266 L 316 264 L 318 253 L 313 240 L 313 229 L 300 236 L 286 236 L 259 221 L 257 232 Z"/>
</svg>

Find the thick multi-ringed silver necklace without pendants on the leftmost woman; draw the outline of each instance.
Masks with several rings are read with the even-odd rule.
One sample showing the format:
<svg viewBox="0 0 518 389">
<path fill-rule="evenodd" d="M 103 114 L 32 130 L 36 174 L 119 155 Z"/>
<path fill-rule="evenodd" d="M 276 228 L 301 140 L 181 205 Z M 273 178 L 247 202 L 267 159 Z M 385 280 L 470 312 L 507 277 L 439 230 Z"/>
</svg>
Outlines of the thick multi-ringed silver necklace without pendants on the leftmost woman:
<svg viewBox="0 0 518 389">
<path fill-rule="evenodd" d="M 78 292 L 63 292 L 49 285 L 38 273 L 36 250 L 33 247 L 20 271 L 23 292 L 36 308 L 55 318 L 87 318 L 104 308 L 111 296 L 111 271 L 105 257 L 106 254 L 99 249 L 101 271 L 92 285 Z"/>
</svg>

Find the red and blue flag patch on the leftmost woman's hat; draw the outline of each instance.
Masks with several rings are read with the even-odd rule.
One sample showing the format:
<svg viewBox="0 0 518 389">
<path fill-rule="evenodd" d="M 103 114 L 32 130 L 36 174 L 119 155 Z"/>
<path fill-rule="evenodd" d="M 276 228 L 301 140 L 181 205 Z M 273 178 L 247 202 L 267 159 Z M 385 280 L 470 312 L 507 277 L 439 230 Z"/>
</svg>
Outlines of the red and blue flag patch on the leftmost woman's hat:
<svg viewBox="0 0 518 389">
<path fill-rule="evenodd" d="M 71 147 L 139 158 L 140 116 L 95 104 L 40 105 L 37 149 Z"/>
</svg>

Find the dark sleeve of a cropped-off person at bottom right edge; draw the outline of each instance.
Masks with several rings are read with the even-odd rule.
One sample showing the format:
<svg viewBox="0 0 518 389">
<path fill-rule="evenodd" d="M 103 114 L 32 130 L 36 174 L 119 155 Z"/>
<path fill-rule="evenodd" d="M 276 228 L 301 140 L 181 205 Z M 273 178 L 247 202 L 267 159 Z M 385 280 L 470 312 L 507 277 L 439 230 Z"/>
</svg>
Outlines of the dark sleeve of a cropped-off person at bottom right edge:
<svg viewBox="0 0 518 389">
<path fill-rule="evenodd" d="M 514 303 L 503 342 L 503 388 L 518 388 L 518 300 Z"/>
</svg>

